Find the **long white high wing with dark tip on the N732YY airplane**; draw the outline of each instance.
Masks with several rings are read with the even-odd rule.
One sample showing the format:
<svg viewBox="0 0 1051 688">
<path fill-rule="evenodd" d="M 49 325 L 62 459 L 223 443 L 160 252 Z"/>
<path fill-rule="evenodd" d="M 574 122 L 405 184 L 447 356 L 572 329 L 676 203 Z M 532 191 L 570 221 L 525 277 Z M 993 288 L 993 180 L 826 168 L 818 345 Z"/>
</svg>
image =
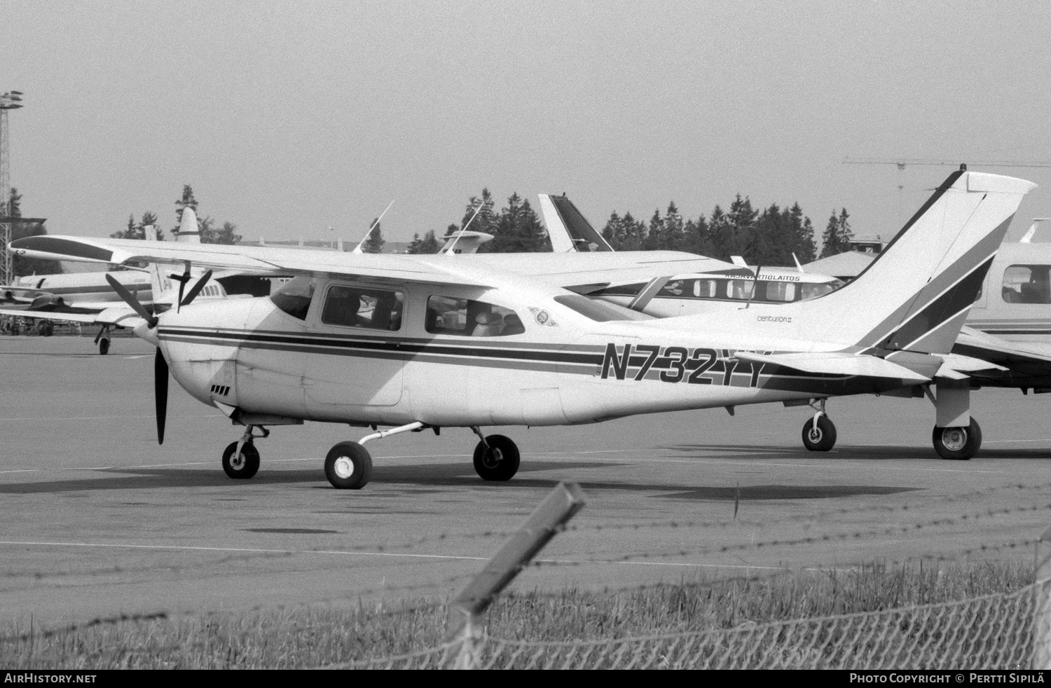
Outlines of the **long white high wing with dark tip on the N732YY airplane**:
<svg viewBox="0 0 1051 688">
<path fill-rule="evenodd" d="M 270 246 L 179 244 L 83 236 L 27 236 L 11 244 L 18 255 L 81 263 L 129 265 L 138 262 L 241 270 L 256 274 L 345 274 L 378 282 L 410 279 L 417 283 L 487 287 L 462 274 L 451 256 L 399 256 L 392 254 L 288 250 Z"/>
</svg>

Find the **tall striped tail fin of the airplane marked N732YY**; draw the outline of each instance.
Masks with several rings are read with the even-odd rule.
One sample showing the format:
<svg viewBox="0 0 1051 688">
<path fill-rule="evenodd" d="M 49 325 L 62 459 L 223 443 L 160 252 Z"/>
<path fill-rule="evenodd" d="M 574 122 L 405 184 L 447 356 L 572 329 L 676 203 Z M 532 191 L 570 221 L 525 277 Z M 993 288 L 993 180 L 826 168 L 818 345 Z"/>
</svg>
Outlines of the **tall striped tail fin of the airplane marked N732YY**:
<svg viewBox="0 0 1051 688">
<path fill-rule="evenodd" d="M 869 353 L 951 351 L 1023 195 L 1035 186 L 966 169 L 950 174 L 853 282 L 800 305 L 812 316 L 811 336 Z"/>
</svg>

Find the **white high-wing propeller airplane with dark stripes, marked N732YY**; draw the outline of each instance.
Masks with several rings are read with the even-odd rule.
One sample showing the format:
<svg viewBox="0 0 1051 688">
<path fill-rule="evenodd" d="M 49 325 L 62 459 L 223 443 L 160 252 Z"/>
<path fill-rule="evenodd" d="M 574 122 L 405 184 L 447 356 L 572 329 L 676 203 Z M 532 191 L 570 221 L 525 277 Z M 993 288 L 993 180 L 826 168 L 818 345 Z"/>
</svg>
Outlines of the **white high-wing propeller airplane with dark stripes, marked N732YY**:
<svg viewBox="0 0 1051 688">
<path fill-rule="evenodd" d="M 929 383 L 937 388 L 935 445 L 943 456 L 969 458 L 981 438 L 959 370 L 985 363 L 948 352 L 1033 186 L 955 172 L 856 282 L 776 311 L 719 318 L 655 319 L 506 267 L 487 269 L 472 256 L 71 236 L 26 237 L 12 248 L 296 275 L 270 297 L 143 311 L 135 328 L 158 347 L 159 439 L 170 371 L 190 395 L 245 425 L 223 454 L 234 478 L 257 471 L 254 440 L 269 434 L 265 426 L 304 420 L 394 426 L 329 451 L 325 473 L 335 487 L 368 482 L 364 443 L 441 428 L 474 431 L 478 475 L 508 480 L 518 449 L 482 426 L 590 423 Z"/>
</svg>

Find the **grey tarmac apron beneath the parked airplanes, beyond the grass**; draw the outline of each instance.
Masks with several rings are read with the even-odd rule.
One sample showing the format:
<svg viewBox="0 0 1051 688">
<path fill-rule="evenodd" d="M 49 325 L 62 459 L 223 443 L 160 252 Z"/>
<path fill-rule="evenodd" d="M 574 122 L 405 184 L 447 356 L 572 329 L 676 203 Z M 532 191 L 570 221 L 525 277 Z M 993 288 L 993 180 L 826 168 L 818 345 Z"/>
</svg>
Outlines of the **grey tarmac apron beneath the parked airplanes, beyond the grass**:
<svg viewBox="0 0 1051 688">
<path fill-rule="evenodd" d="M 832 399 L 833 451 L 803 449 L 804 408 L 490 429 L 522 453 L 486 483 L 476 438 L 446 429 L 374 440 L 372 481 L 336 491 L 329 447 L 368 430 L 306 423 L 257 440 L 172 382 L 156 441 L 153 349 L 87 337 L 0 337 L 0 628 L 119 614 L 195 613 L 448 596 L 559 481 L 588 505 L 515 589 L 631 588 L 695 577 L 1031 561 L 1051 525 L 1051 396 L 974 393 L 984 443 L 945 461 L 926 399 Z"/>
</svg>

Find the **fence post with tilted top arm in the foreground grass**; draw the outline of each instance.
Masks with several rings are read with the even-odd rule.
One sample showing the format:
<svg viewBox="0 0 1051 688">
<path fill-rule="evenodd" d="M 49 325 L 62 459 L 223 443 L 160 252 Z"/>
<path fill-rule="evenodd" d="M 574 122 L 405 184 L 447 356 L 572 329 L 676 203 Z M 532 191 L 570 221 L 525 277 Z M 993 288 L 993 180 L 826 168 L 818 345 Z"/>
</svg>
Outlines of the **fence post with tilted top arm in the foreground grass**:
<svg viewBox="0 0 1051 688">
<path fill-rule="evenodd" d="M 481 613 L 583 505 L 584 495 L 580 485 L 575 482 L 555 485 L 518 531 L 453 599 L 453 607 L 459 612 L 458 618 L 453 620 L 453 637 L 460 640 L 454 668 L 473 669 L 478 666 L 485 634 Z"/>
</svg>

